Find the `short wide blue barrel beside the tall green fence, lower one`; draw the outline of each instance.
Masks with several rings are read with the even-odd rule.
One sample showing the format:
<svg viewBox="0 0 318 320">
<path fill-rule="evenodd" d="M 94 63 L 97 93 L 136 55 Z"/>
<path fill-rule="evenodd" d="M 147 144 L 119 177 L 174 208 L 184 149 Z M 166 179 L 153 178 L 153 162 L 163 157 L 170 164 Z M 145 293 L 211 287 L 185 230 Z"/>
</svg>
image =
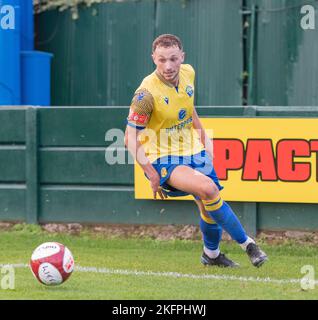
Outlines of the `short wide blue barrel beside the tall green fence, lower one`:
<svg viewBox="0 0 318 320">
<path fill-rule="evenodd" d="M 51 60 L 53 54 L 21 51 L 21 103 L 49 106 L 51 104 Z"/>
</svg>

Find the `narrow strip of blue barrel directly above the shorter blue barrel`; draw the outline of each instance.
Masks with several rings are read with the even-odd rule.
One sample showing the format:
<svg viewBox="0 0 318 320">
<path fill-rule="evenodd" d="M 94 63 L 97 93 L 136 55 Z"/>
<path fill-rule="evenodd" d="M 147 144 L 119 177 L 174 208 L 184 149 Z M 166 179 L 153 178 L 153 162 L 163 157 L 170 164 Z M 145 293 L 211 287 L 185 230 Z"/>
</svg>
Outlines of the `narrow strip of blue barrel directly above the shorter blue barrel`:
<svg viewBox="0 0 318 320">
<path fill-rule="evenodd" d="M 34 49 L 33 0 L 21 0 L 21 50 Z"/>
</svg>

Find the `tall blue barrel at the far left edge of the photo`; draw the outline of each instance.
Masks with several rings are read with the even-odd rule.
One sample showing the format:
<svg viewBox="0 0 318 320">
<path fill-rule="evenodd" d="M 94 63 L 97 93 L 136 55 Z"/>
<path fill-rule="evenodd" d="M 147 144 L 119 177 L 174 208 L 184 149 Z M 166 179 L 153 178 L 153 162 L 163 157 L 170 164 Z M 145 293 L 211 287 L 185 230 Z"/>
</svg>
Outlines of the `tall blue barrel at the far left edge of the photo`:
<svg viewBox="0 0 318 320">
<path fill-rule="evenodd" d="M 0 0 L 0 105 L 19 105 L 20 1 Z"/>
</svg>

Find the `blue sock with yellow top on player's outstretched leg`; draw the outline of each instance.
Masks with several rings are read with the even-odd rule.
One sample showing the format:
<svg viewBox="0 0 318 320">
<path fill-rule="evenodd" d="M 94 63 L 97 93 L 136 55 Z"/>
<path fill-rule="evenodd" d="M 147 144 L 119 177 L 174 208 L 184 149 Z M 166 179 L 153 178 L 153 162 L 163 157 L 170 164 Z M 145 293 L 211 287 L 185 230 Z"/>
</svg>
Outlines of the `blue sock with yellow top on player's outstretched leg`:
<svg viewBox="0 0 318 320">
<path fill-rule="evenodd" d="M 241 222 L 231 207 L 223 201 L 220 196 L 214 200 L 203 200 L 202 202 L 211 218 L 220 225 L 233 240 L 239 244 L 247 240 L 247 234 Z"/>
</svg>

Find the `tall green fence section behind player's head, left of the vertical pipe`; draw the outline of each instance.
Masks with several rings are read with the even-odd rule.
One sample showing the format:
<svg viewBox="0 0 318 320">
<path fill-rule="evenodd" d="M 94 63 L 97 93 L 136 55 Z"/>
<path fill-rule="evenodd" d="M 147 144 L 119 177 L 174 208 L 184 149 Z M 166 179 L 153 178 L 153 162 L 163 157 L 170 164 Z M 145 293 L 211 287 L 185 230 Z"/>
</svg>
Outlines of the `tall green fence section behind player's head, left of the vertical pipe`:
<svg viewBox="0 0 318 320">
<path fill-rule="evenodd" d="M 161 33 L 184 42 L 196 69 L 200 105 L 240 105 L 242 15 L 238 0 L 144 0 L 36 15 L 36 47 L 52 52 L 52 105 L 128 105 L 154 70 L 151 45 Z M 127 18 L 129 17 L 129 19 Z"/>
</svg>

